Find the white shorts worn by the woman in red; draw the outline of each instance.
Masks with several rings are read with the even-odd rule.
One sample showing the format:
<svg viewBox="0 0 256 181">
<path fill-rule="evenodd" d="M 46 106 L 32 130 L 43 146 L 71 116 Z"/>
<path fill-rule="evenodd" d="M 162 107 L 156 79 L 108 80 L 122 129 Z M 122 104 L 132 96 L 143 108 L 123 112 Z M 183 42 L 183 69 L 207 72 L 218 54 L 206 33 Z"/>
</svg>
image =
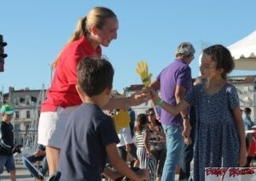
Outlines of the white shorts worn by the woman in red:
<svg viewBox="0 0 256 181">
<path fill-rule="evenodd" d="M 58 107 L 57 111 L 41 112 L 38 124 L 38 144 L 61 149 L 67 119 L 78 107 Z"/>
</svg>

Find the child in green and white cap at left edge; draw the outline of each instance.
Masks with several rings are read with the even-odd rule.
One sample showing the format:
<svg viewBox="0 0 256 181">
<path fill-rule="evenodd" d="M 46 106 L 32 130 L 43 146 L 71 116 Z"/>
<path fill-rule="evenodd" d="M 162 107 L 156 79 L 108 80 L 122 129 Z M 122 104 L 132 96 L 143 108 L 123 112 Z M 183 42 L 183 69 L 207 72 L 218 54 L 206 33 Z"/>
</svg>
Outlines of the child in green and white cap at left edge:
<svg viewBox="0 0 256 181">
<path fill-rule="evenodd" d="M 14 144 L 14 127 L 10 123 L 13 115 L 14 108 L 10 105 L 3 105 L 1 114 L 3 121 L 1 122 L 0 133 L 0 174 L 3 173 L 3 167 L 9 172 L 10 180 L 15 181 L 15 159 L 13 156 Z"/>
</svg>

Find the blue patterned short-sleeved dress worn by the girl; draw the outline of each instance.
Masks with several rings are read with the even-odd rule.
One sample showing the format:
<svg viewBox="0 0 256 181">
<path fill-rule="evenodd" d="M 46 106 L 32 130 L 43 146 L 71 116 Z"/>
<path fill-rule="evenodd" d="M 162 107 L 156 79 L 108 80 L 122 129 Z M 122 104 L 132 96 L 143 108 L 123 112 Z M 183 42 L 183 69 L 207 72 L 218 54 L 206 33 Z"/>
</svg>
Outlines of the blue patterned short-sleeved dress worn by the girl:
<svg viewBox="0 0 256 181">
<path fill-rule="evenodd" d="M 185 100 L 196 110 L 194 180 L 205 180 L 205 167 L 238 167 L 240 141 L 232 112 L 239 105 L 236 88 L 226 83 L 209 95 L 200 84 Z"/>
</svg>

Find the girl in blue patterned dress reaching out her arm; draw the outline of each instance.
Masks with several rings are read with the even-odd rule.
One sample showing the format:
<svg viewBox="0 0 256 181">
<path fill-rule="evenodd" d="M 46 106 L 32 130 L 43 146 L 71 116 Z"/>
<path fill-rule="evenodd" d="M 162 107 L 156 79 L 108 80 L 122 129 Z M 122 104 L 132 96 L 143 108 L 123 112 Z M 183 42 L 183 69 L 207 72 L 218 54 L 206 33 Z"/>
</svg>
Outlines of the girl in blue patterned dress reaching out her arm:
<svg viewBox="0 0 256 181">
<path fill-rule="evenodd" d="M 172 115 L 195 106 L 194 180 L 205 180 L 205 167 L 242 167 L 247 162 L 239 98 L 236 88 L 227 82 L 233 68 L 230 51 L 213 45 L 203 50 L 201 58 L 201 76 L 206 81 L 191 88 L 179 104 L 168 105 L 151 90 L 153 102 Z"/>
</svg>

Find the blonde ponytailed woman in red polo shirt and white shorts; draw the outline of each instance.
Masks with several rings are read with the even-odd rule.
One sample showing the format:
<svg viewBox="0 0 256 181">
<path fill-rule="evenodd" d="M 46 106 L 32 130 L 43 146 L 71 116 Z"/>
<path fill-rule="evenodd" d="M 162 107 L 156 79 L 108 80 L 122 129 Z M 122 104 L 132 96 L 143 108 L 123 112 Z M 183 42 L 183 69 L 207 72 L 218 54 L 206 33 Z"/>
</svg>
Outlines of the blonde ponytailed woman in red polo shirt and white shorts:
<svg viewBox="0 0 256 181">
<path fill-rule="evenodd" d="M 41 106 L 38 125 L 38 144 L 46 146 L 49 175 L 57 170 L 67 117 L 82 103 L 75 88 L 78 62 L 84 57 L 102 56 L 101 45 L 108 47 L 117 38 L 118 29 L 119 21 L 111 9 L 92 8 L 79 20 L 77 29 L 52 65 L 55 75 Z M 140 92 L 129 98 L 110 99 L 106 109 L 139 105 L 148 97 L 149 93 Z"/>
</svg>

